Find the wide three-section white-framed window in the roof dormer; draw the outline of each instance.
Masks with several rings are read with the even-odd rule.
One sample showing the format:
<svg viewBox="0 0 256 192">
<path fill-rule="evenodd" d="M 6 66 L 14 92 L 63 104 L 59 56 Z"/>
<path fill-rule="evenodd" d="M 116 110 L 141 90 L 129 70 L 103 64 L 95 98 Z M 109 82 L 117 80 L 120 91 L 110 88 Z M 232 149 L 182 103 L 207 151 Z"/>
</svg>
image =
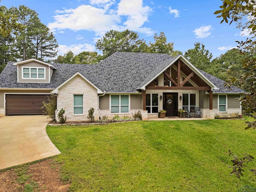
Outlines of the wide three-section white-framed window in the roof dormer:
<svg viewBox="0 0 256 192">
<path fill-rule="evenodd" d="M 22 67 L 22 79 L 45 79 L 45 67 Z"/>
</svg>

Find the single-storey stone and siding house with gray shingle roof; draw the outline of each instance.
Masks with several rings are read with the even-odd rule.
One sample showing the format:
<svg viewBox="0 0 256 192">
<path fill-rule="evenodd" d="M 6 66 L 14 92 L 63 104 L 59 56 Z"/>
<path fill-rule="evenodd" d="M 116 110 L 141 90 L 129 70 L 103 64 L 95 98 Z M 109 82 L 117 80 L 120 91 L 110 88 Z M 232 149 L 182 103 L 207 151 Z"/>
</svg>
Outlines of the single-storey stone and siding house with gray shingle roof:
<svg viewBox="0 0 256 192">
<path fill-rule="evenodd" d="M 243 90 L 198 70 L 184 56 L 116 52 L 96 65 L 49 64 L 35 59 L 9 62 L 0 74 L 0 115 L 42 114 L 53 94 L 67 121 L 96 119 L 140 110 L 144 120 L 178 116 L 178 109 L 200 107 L 204 118 L 241 114 Z"/>
</svg>

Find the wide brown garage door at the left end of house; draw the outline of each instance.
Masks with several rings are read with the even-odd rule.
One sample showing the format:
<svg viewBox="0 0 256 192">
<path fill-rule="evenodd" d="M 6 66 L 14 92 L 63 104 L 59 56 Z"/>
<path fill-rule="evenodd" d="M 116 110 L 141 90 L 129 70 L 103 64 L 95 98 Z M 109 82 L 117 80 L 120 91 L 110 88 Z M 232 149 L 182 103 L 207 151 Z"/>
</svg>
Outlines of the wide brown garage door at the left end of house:
<svg viewBox="0 0 256 192">
<path fill-rule="evenodd" d="M 47 95 L 6 94 L 6 115 L 44 114 L 43 101 Z"/>
</svg>

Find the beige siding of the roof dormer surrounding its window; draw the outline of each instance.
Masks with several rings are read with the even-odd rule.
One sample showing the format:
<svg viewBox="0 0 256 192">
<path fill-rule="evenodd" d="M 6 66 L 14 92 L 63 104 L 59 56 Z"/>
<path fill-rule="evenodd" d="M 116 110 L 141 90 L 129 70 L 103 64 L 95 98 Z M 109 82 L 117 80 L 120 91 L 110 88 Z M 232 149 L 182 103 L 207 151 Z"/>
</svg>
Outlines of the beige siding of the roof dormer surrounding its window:
<svg viewBox="0 0 256 192">
<path fill-rule="evenodd" d="M 22 79 L 22 67 L 45 67 L 45 79 Z M 19 82 L 32 82 L 32 83 L 49 83 L 49 66 L 40 64 L 38 62 L 29 62 L 25 64 L 18 65 L 19 70 Z"/>
</svg>

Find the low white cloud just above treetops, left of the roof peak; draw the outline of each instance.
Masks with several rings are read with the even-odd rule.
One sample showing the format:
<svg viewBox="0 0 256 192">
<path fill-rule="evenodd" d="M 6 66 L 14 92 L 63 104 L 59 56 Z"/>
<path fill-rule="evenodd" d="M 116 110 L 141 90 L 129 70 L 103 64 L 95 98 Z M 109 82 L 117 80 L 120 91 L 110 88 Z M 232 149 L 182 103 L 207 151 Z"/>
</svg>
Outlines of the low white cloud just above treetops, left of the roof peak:
<svg viewBox="0 0 256 192">
<path fill-rule="evenodd" d="M 59 45 L 58 47 L 59 54 L 64 55 L 67 53 L 69 50 L 71 50 L 75 55 L 79 54 L 80 52 L 83 51 L 94 51 L 94 45 L 91 44 L 73 44 L 70 46 L 66 45 Z"/>
</svg>

